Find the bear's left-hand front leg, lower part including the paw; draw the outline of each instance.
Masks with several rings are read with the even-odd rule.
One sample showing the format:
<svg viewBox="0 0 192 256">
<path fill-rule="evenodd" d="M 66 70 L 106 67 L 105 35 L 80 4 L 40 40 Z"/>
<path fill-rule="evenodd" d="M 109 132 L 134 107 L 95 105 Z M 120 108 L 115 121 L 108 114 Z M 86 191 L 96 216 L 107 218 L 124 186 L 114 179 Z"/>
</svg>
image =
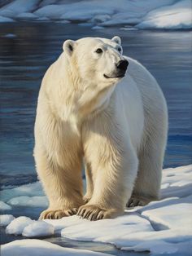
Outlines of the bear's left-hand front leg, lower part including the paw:
<svg viewBox="0 0 192 256">
<path fill-rule="evenodd" d="M 49 207 L 44 210 L 40 219 L 63 218 L 77 213 L 83 204 L 81 161 L 76 158 L 71 168 L 59 166 L 48 159 L 41 148 L 35 148 L 37 173 L 49 200 Z"/>
</svg>

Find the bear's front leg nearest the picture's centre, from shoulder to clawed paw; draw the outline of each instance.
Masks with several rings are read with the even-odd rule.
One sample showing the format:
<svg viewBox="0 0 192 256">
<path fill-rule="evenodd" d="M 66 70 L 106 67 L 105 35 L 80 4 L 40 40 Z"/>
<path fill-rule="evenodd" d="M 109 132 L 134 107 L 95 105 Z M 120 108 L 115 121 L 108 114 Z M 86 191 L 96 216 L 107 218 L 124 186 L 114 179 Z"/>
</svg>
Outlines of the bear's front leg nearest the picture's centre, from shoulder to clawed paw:
<svg viewBox="0 0 192 256">
<path fill-rule="evenodd" d="M 90 220 L 123 214 L 137 175 L 137 155 L 119 130 L 85 131 L 85 160 L 92 170 L 94 192 L 77 215 Z M 98 127 L 97 127 L 98 129 Z"/>
</svg>

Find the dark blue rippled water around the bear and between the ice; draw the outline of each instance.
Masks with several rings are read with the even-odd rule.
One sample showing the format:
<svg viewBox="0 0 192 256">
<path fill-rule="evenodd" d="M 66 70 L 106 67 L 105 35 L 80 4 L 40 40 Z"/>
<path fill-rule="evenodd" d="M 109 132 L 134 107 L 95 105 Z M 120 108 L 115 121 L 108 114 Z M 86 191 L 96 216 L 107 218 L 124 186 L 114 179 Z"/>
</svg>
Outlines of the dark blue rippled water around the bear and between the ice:
<svg viewBox="0 0 192 256">
<path fill-rule="evenodd" d="M 10 33 L 15 36 L 7 35 Z M 0 24 L 0 172 L 3 187 L 37 179 L 32 156 L 37 95 L 41 78 L 61 53 L 63 41 L 115 35 L 122 38 L 124 55 L 139 60 L 151 71 L 167 99 L 169 133 L 164 167 L 192 162 L 191 32 L 92 30 L 77 24 Z M 7 214 L 37 218 L 40 211 L 15 207 Z M 15 239 L 22 237 L 5 236 L 2 228 L 2 243 Z M 122 252 L 113 245 L 69 241 L 61 237 L 51 237 L 47 241 L 116 255 L 141 255 Z"/>
</svg>

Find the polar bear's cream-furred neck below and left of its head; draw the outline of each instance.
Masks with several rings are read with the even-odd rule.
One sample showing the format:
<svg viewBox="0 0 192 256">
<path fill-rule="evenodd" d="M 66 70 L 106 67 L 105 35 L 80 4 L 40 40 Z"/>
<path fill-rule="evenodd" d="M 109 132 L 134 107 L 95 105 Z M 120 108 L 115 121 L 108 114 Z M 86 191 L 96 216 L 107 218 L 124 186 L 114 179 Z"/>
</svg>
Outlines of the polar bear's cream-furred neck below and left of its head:
<svg viewBox="0 0 192 256">
<path fill-rule="evenodd" d="M 74 63 L 72 67 L 74 69 Z M 50 96 L 55 99 L 53 107 L 62 121 L 81 124 L 86 118 L 107 108 L 115 86 L 98 90 L 99 86 L 94 82 L 82 81 L 78 68 L 74 72 L 64 55 L 59 57 L 55 72 L 59 72 L 61 76 L 59 80 L 56 78 L 57 82 Z"/>
</svg>

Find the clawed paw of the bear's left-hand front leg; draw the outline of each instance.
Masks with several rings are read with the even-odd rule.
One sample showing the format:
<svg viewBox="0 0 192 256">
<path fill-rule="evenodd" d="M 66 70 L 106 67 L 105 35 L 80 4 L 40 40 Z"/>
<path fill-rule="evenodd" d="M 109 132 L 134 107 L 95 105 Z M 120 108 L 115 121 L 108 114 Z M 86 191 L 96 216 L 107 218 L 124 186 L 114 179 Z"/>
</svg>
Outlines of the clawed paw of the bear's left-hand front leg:
<svg viewBox="0 0 192 256">
<path fill-rule="evenodd" d="M 58 219 L 67 216 L 72 216 L 77 213 L 76 208 L 68 209 L 68 210 L 44 210 L 41 212 L 39 219 Z"/>
</svg>

